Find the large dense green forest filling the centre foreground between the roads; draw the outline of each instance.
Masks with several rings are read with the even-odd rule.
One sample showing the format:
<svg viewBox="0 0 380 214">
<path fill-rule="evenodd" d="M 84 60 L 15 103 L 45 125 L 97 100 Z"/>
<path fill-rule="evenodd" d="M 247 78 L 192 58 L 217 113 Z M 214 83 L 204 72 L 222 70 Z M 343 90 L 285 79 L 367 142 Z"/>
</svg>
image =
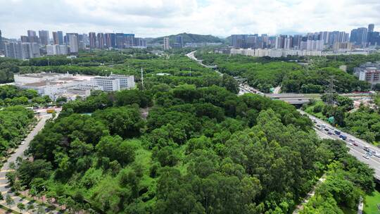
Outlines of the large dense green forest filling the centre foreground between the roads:
<svg viewBox="0 0 380 214">
<path fill-rule="evenodd" d="M 30 144 L 34 161 L 17 163 L 15 182 L 72 210 L 289 213 L 346 153 L 282 101 L 217 86 L 159 88 L 69 102 Z"/>
</svg>

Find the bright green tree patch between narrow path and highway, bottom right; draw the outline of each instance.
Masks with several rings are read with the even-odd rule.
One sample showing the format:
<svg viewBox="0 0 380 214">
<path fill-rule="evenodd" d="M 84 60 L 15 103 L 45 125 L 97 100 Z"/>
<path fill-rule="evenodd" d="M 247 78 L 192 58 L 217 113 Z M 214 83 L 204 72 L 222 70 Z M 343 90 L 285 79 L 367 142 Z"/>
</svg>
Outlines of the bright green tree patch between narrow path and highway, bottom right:
<svg viewBox="0 0 380 214">
<path fill-rule="evenodd" d="M 374 170 L 346 153 L 346 144 L 329 140 L 334 145 L 334 162 L 329 164 L 324 181 L 316 189 L 302 214 L 341 213 L 342 209 L 356 210 L 360 196 L 374 191 Z"/>
</svg>

